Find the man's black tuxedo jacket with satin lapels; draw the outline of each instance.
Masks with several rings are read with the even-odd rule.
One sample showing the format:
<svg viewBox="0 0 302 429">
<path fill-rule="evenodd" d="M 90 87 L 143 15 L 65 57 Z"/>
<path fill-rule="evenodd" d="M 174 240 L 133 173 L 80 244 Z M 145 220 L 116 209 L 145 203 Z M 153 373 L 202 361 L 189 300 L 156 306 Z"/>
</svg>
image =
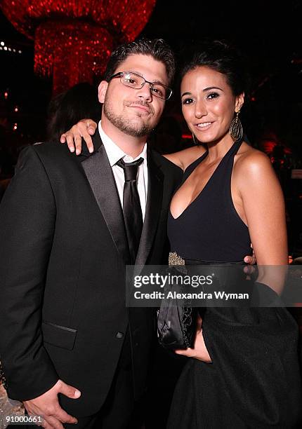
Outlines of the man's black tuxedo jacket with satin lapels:
<svg viewBox="0 0 302 429">
<path fill-rule="evenodd" d="M 125 306 L 129 250 L 112 169 L 61 144 L 20 154 L 0 206 L 0 359 L 8 396 L 29 400 L 62 379 L 81 397 L 70 414 L 102 406 L 129 327 L 135 395 L 145 388 L 154 314 Z M 145 222 L 136 264 L 166 262 L 166 217 L 182 172 L 149 150 Z"/>
</svg>

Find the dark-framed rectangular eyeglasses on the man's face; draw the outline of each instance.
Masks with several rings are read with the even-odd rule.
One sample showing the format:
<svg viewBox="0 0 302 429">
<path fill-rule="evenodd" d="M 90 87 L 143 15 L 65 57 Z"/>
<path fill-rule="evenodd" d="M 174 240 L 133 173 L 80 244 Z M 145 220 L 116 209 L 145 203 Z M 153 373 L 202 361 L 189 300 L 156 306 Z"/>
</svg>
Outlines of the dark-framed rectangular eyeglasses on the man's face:
<svg viewBox="0 0 302 429">
<path fill-rule="evenodd" d="M 120 81 L 123 85 L 134 89 L 143 88 L 145 83 L 149 83 L 151 94 L 155 95 L 155 97 L 162 98 L 162 100 L 169 100 L 172 95 L 172 90 L 168 88 L 168 86 L 165 86 L 163 83 L 146 81 L 143 76 L 133 73 L 132 71 L 119 71 L 119 73 L 111 76 L 108 82 L 117 77 L 121 78 Z"/>
</svg>

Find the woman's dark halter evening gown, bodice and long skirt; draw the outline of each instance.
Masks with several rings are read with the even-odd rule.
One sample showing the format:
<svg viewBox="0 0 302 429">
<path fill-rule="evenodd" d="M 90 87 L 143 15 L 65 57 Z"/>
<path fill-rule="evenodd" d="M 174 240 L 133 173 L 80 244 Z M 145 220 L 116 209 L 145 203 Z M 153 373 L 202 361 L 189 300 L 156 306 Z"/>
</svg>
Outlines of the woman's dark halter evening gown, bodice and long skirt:
<svg viewBox="0 0 302 429">
<path fill-rule="evenodd" d="M 250 254 L 247 226 L 232 203 L 235 142 L 199 196 L 176 219 L 171 251 L 190 264 L 234 263 Z M 183 182 L 206 154 L 192 163 Z M 286 308 L 203 310 L 211 363 L 188 359 L 173 395 L 169 429 L 295 428 L 301 413 L 298 327 Z"/>
</svg>

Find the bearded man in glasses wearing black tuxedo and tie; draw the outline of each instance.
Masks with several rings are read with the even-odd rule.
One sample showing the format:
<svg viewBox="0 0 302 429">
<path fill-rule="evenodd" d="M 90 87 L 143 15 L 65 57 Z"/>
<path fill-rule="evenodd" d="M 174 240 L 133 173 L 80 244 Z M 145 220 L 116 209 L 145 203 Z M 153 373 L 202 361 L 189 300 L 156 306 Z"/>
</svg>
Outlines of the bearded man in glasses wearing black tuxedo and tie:
<svg viewBox="0 0 302 429">
<path fill-rule="evenodd" d="M 166 262 L 181 171 L 147 135 L 174 69 L 160 39 L 117 48 L 93 154 L 27 147 L 1 203 L 1 363 L 8 397 L 45 428 L 126 428 L 145 391 L 154 314 L 126 308 L 125 266 Z"/>
</svg>

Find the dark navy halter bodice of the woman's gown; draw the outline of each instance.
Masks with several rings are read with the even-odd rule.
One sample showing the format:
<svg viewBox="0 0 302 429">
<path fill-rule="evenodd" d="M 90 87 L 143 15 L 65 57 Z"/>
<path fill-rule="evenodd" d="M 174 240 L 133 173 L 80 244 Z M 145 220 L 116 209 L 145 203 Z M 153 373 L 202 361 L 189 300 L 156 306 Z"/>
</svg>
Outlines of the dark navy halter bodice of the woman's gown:
<svg viewBox="0 0 302 429">
<path fill-rule="evenodd" d="M 202 191 L 176 219 L 169 210 L 171 252 L 183 259 L 239 262 L 251 254 L 249 229 L 235 209 L 230 187 L 234 157 L 241 143 L 230 147 Z M 188 166 L 180 186 L 207 155 L 208 151 Z"/>
</svg>

